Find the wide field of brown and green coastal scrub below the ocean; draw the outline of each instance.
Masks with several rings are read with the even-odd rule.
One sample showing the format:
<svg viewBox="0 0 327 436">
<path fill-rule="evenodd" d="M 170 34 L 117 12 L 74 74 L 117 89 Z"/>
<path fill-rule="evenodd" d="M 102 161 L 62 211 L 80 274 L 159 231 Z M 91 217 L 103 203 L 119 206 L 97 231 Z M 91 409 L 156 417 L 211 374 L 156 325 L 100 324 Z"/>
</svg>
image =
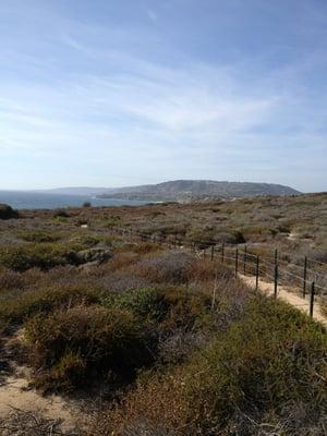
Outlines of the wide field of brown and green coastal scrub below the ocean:
<svg viewBox="0 0 327 436">
<path fill-rule="evenodd" d="M 326 208 L 312 195 L 5 216 L 0 399 L 16 409 L 0 405 L 0 434 L 326 435 L 325 328 L 173 244 L 277 245 L 323 263 Z M 22 373 L 50 411 L 60 398 L 69 425 L 12 402 Z"/>
</svg>

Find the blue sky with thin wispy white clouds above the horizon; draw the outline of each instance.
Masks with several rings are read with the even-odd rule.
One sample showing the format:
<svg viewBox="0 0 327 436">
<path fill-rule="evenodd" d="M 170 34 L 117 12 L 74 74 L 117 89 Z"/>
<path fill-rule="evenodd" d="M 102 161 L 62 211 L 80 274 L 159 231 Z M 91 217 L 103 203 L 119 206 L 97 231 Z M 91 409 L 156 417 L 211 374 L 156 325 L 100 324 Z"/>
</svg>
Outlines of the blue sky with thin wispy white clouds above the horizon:
<svg viewBox="0 0 327 436">
<path fill-rule="evenodd" d="M 326 0 L 0 0 L 0 189 L 327 191 Z"/>
</svg>

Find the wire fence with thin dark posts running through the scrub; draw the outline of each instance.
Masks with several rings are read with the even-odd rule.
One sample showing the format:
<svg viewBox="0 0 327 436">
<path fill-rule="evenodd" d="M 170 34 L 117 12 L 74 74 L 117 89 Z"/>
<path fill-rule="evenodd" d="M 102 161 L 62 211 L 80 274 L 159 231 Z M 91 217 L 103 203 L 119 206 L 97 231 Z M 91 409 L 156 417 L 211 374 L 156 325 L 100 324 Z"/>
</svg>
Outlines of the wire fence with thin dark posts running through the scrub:
<svg viewBox="0 0 327 436">
<path fill-rule="evenodd" d="M 165 244 L 170 249 L 189 249 L 199 256 L 209 257 L 233 268 L 235 276 L 255 278 L 274 284 L 274 295 L 278 296 L 280 287 L 301 295 L 308 296 L 310 314 L 313 316 L 315 299 L 327 299 L 327 263 L 304 256 L 293 263 L 281 251 L 263 249 L 255 244 L 229 244 L 218 241 L 185 240 L 179 234 L 158 235 L 126 229 L 116 229 L 121 234 Z M 304 300 L 306 301 L 306 300 Z M 306 304 L 306 303 L 305 303 Z"/>
</svg>

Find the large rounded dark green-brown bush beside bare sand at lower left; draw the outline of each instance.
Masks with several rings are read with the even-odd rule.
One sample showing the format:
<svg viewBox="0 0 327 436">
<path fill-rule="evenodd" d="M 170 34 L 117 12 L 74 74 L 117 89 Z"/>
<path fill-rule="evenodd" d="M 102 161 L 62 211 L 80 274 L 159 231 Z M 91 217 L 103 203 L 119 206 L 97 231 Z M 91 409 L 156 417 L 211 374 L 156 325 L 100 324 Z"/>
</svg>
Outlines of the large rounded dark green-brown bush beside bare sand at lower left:
<svg viewBox="0 0 327 436">
<path fill-rule="evenodd" d="M 53 390 L 95 379 L 131 382 L 153 356 L 147 331 L 131 312 L 100 306 L 60 310 L 25 326 L 36 385 Z"/>
</svg>

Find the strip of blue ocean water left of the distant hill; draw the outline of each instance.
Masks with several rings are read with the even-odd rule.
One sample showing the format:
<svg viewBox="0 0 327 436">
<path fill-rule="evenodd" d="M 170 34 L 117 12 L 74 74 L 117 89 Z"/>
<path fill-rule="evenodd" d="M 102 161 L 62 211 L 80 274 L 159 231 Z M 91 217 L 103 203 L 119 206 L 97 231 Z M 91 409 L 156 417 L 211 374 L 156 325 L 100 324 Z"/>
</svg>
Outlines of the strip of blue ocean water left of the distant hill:
<svg viewBox="0 0 327 436">
<path fill-rule="evenodd" d="M 100 206 L 141 206 L 146 202 L 95 198 L 88 195 L 45 194 L 19 191 L 0 191 L 0 203 L 5 203 L 14 209 L 57 209 L 59 207 L 81 207 L 89 202 L 94 207 Z"/>
</svg>

